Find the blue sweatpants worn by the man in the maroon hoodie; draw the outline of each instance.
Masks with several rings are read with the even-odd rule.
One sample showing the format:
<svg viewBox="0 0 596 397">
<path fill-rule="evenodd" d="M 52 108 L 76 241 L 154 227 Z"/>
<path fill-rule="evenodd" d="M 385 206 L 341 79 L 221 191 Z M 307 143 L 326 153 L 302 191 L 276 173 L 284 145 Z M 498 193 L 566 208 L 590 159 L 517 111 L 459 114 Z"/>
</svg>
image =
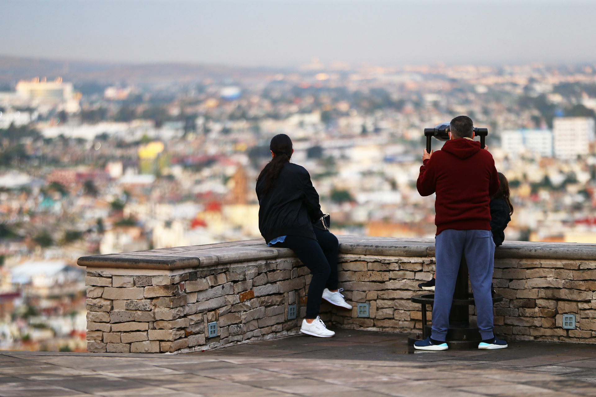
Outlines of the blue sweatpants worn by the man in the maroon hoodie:
<svg viewBox="0 0 596 397">
<path fill-rule="evenodd" d="M 455 282 L 460 270 L 461 255 L 464 254 L 474 291 L 480 336 L 482 339 L 491 339 L 494 337 L 491 283 L 495 260 L 495 243 L 491 231 L 447 229 L 434 238 L 436 285 L 432 338 L 444 341 L 447 335 Z"/>
</svg>

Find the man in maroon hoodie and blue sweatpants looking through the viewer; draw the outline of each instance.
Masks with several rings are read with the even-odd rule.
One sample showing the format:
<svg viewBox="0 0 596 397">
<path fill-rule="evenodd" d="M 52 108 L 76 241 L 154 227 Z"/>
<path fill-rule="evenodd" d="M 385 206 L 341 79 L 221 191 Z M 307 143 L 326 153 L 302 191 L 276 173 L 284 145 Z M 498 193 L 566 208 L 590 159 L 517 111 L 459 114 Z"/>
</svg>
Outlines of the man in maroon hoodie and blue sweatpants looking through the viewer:
<svg viewBox="0 0 596 397">
<path fill-rule="evenodd" d="M 493 334 L 491 282 L 495 245 L 491 235 L 489 196 L 499 189 L 492 155 L 474 142 L 470 117 L 458 116 L 449 123 L 449 139 L 436 153 L 424 151 L 418 176 L 422 196 L 436 193 L 434 223 L 436 286 L 432 335 L 415 342 L 421 350 L 446 350 L 449 311 L 455 281 L 464 254 L 482 336 L 479 349 L 502 349 L 507 343 Z"/>
</svg>

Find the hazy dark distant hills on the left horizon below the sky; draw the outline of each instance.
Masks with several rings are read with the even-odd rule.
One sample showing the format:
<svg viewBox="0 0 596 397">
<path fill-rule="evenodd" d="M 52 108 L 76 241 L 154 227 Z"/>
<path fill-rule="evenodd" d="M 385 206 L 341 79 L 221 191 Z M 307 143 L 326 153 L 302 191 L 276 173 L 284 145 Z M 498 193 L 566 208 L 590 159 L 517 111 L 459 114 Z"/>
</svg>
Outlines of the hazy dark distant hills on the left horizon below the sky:
<svg viewBox="0 0 596 397">
<path fill-rule="evenodd" d="M 234 67 L 204 64 L 125 64 L 91 61 L 46 60 L 38 58 L 5 57 L 0 55 L 0 83 L 12 85 L 33 77 L 63 77 L 72 82 L 151 83 L 166 81 L 196 81 L 211 79 L 240 79 L 283 73 L 275 68 Z M 287 73 L 287 71 L 285 71 Z"/>
</svg>

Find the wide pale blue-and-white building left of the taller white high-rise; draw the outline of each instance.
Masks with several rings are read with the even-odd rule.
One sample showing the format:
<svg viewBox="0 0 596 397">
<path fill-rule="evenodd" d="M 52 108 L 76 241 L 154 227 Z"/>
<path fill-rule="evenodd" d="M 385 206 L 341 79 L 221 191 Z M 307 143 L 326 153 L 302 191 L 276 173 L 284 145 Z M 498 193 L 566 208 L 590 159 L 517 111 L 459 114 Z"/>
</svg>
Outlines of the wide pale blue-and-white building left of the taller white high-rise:
<svg viewBox="0 0 596 397">
<path fill-rule="evenodd" d="M 510 154 L 524 151 L 552 157 L 552 132 L 550 130 L 513 130 L 501 133 L 501 148 Z"/>
</svg>

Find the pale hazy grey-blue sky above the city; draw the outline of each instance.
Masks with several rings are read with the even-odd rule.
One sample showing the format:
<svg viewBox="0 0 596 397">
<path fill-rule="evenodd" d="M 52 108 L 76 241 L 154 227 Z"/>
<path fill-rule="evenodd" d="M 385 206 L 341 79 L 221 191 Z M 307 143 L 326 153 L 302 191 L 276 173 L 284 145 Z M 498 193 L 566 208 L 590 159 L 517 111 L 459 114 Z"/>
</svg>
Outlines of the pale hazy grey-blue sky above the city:
<svg viewBox="0 0 596 397">
<path fill-rule="evenodd" d="M 596 0 L 3 0 L 0 55 L 107 62 L 596 62 Z"/>
</svg>

